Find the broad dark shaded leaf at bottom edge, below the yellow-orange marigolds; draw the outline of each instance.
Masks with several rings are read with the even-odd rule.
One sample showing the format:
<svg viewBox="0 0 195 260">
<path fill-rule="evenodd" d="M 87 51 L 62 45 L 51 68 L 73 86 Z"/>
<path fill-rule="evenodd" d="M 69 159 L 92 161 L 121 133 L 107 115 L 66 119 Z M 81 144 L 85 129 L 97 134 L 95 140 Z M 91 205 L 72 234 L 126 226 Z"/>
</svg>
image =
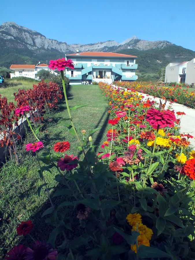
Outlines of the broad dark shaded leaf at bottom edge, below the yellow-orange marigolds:
<svg viewBox="0 0 195 260">
<path fill-rule="evenodd" d="M 140 245 L 139 246 L 139 257 L 140 258 L 161 258 L 161 257 L 168 257 L 171 258 L 170 255 L 168 255 L 166 252 L 155 248 L 155 247 L 151 247 L 151 246 L 144 246 L 144 245 Z"/>
</svg>

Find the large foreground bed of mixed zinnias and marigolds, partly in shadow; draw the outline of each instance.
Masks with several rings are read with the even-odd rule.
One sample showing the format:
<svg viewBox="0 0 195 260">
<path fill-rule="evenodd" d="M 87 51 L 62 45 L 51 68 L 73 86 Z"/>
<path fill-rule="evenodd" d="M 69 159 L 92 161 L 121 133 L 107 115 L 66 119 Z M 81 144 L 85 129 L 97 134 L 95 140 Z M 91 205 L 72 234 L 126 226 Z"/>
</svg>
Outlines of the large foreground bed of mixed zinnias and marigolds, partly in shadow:
<svg viewBox="0 0 195 260">
<path fill-rule="evenodd" d="M 63 69 L 72 62 L 51 64 L 61 71 L 64 88 Z M 99 128 L 83 129 L 80 140 L 71 110 L 86 105 L 69 108 L 65 88 L 69 118 L 59 123 L 77 137 L 84 159 L 66 154 L 67 140 L 49 147 L 41 141 L 26 145 L 40 166 L 38 192 L 44 188 L 51 204 L 42 217 L 53 231 L 42 242 L 35 237 L 31 245 L 15 246 L 6 259 L 14 254 L 15 259 L 40 260 L 193 259 L 195 152 L 193 137 L 179 133 L 182 112 L 174 115 L 154 101 L 144 102 L 136 92 L 99 86 L 109 103 L 111 129 L 98 154 L 91 135 Z M 45 149 L 41 157 L 40 149 Z M 58 187 L 48 187 L 44 179 L 44 171 L 52 174 L 53 168 L 59 172 Z M 53 197 L 64 198 L 62 203 L 53 204 L 51 189 Z M 75 226 L 80 235 L 72 238 Z M 32 229 L 33 223 L 24 220 L 17 232 L 31 235 Z"/>
</svg>

